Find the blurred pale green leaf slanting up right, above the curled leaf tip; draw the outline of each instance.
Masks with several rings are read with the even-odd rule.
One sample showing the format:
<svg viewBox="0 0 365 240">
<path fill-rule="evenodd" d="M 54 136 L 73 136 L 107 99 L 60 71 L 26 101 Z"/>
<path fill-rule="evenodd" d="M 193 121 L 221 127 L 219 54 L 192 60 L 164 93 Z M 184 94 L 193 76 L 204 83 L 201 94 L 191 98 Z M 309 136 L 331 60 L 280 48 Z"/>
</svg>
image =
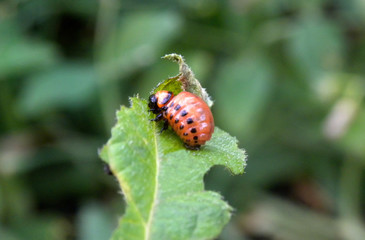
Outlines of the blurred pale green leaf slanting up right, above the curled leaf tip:
<svg viewBox="0 0 365 240">
<path fill-rule="evenodd" d="M 98 51 L 104 78 L 116 80 L 157 59 L 180 27 L 170 11 L 127 15 L 113 26 Z M 136 31 L 138 29 L 138 31 Z M 146 37 L 141 37 L 146 36 Z"/>
</svg>

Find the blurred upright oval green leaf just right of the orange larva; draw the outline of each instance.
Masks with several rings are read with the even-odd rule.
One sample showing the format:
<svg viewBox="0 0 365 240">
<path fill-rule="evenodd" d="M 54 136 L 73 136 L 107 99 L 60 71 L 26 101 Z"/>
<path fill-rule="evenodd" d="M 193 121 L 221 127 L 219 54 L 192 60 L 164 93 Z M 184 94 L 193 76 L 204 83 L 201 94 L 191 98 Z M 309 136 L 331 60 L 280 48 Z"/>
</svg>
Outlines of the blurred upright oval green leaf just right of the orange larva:
<svg viewBox="0 0 365 240">
<path fill-rule="evenodd" d="M 252 119 L 256 119 L 268 104 L 272 80 L 271 65 L 261 56 L 243 56 L 227 62 L 218 73 L 214 92 L 219 105 L 217 116 L 234 132 L 248 134 L 253 131 Z M 242 110 L 237 112 L 234 103 L 239 103 Z M 233 115 L 235 118 L 226 117 Z"/>
</svg>

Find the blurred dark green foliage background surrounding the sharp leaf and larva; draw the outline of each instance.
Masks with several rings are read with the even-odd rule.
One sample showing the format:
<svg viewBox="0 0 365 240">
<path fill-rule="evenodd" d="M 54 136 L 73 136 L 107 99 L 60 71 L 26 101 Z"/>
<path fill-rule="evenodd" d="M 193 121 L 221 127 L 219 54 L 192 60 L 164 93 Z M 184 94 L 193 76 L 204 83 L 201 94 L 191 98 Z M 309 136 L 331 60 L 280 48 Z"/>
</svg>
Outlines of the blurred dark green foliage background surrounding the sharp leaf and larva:
<svg viewBox="0 0 365 240">
<path fill-rule="evenodd" d="M 179 53 L 248 153 L 205 181 L 220 240 L 365 239 L 362 0 L 0 1 L 0 239 L 108 239 L 123 197 L 97 150 Z"/>
</svg>

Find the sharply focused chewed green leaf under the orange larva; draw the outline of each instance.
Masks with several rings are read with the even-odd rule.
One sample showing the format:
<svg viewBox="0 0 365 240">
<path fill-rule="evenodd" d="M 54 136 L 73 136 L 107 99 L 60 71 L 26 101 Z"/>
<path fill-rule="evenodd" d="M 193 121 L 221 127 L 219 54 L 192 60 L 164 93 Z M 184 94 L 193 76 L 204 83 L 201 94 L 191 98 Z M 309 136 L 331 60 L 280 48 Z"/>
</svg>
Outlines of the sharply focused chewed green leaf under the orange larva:
<svg viewBox="0 0 365 240">
<path fill-rule="evenodd" d="M 181 86 L 173 78 L 166 84 L 167 89 Z M 149 121 L 154 115 L 146 100 L 132 97 L 130 101 L 130 108 L 122 106 L 117 112 L 112 136 L 100 151 L 127 204 L 112 239 L 218 236 L 232 208 L 218 193 L 204 190 L 203 178 L 214 165 L 223 165 L 233 174 L 243 173 L 245 151 L 237 147 L 236 138 L 217 127 L 199 150 L 188 150 L 171 129 L 160 133 L 162 123 Z"/>
</svg>

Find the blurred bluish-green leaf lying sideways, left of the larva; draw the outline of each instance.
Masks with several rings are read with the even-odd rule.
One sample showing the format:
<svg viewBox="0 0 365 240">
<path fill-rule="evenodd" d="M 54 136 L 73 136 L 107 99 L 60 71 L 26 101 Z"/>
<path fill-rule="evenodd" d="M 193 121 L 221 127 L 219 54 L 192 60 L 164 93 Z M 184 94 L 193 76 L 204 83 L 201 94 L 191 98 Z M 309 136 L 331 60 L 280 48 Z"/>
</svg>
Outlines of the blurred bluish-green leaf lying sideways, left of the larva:
<svg viewBox="0 0 365 240">
<path fill-rule="evenodd" d="M 84 106 L 96 91 L 92 66 L 73 63 L 33 75 L 19 97 L 18 108 L 26 116 L 37 116 L 57 108 Z"/>
</svg>

